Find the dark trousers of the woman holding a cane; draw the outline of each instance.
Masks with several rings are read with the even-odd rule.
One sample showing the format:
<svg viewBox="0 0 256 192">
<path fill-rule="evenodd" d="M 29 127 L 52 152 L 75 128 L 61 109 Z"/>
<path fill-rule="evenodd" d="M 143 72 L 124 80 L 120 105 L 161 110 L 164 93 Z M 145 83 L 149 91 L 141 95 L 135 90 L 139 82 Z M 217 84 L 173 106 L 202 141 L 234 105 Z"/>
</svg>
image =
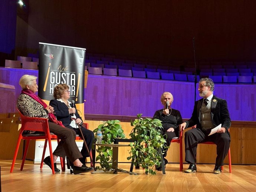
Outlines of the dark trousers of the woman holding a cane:
<svg viewBox="0 0 256 192">
<path fill-rule="evenodd" d="M 81 132 L 80 132 L 79 129 L 72 128 L 70 125 L 68 125 L 66 127 L 69 128 L 69 129 L 74 130 L 76 132 L 76 135 L 79 135 L 80 137 L 82 137 Z M 82 130 L 83 137 L 85 138 L 85 142 L 86 142 L 86 144 L 88 146 L 88 149 L 89 149 L 89 151 L 91 151 L 93 140 L 94 140 L 94 133 L 91 130 L 89 130 L 89 129 L 86 129 L 86 128 L 83 128 L 83 127 L 80 127 L 80 128 Z M 83 157 L 89 157 L 89 154 L 88 154 L 88 152 L 86 150 L 86 147 L 85 147 L 84 143 L 83 143 L 83 147 L 82 147 L 81 153 L 82 153 Z"/>
</svg>

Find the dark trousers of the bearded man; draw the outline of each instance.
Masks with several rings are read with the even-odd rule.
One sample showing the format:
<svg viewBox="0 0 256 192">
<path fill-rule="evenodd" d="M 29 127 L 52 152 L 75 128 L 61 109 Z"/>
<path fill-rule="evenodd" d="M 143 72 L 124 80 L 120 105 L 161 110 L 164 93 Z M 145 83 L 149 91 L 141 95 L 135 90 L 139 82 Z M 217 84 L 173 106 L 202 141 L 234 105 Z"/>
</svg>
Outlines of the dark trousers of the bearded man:
<svg viewBox="0 0 256 192">
<path fill-rule="evenodd" d="M 190 129 L 185 133 L 185 160 L 188 163 L 196 164 L 197 144 L 203 142 L 213 142 L 217 145 L 216 165 L 223 166 L 224 159 L 227 156 L 230 147 L 230 136 L 228 133 L 215 133 L 209 135 L 209 132 L 201 129 Z"/>
</svg>

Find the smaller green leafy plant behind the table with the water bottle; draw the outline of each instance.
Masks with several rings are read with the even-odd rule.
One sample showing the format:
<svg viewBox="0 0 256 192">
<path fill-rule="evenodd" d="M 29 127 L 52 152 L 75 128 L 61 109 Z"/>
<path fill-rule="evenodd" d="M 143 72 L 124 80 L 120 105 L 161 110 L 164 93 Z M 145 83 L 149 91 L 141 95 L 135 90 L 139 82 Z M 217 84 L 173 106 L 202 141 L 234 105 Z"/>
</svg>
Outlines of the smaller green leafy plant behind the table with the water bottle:
<svg viewBox="0 0 256 192">
<path fill-rule="evenodd" d="M 112 144 L 116 138 L 125 138 L 124 130 L 121 125 L 119 125 L 119 122 L 119 120 L 108 120 L 102 123 L 98 128 L 93 130 L 93 132 L 96 133 L 95 137 L 97 136 L 97 131 L 101 129 L 102 143 Z M 100 160 L 100 166 L 97 166 L 96 169 L 110 170 L 112 166 L 112 148 L 107 146 L 98 146 L 96 151 L 99 153 L 96 157 L 96 161 Z"/>
</svg>

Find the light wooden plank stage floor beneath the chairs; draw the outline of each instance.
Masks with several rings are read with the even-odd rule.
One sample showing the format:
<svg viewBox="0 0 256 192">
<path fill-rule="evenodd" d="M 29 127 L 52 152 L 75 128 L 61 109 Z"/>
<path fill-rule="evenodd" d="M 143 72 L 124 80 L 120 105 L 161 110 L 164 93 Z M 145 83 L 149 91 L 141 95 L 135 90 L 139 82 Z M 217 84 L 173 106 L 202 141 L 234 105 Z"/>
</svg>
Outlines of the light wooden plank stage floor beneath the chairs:
<svg viewBox="0 0 256 192">
<path fill-rule="evenodd" d="M 2 192 L 256 191 L 256 165 L 232 165 L 232 173 L 225 165 L 221 174 L 211 173 L 213 164 L 198 164 L 197 173 L 184 173 L 179 171 L 178 163 L 168 163 L 165 175 L 160 171 L 157 171 L 157 175 L 145 175 L 142 169 L 134 170 L 140 173 L 138 175 L 90 172 L 70 175 L 69 170 L 52 175 L 47 165 L 40 169 L 40 165 L 28 160 L 23 171 L 20 171 L 21 160 L 17 160 L 13 173 L 10 173 L 11 163 L 12 160 L 0 160 Z M 130 164 L 119 163 L 118 166 L 129 170 Z M 184 164 L 184 168 L 187 167 L 188 164 Z"/>
</svg>

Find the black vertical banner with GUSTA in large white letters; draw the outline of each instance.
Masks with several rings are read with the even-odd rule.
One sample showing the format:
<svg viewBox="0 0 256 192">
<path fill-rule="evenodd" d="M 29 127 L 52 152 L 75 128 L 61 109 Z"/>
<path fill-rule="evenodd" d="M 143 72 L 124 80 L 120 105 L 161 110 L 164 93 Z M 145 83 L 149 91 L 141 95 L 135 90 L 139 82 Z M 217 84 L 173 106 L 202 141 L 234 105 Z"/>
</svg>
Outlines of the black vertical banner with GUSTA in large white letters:
<svg viewBox="0 0 256 192">
<path fill-rule="evenodd" d="M 84 119 L 85 50 L 56 44 L 39 43 L 38 96 L 49 105 L 54 87 L 66 83 L 70 99 Z"/>
</svg>

